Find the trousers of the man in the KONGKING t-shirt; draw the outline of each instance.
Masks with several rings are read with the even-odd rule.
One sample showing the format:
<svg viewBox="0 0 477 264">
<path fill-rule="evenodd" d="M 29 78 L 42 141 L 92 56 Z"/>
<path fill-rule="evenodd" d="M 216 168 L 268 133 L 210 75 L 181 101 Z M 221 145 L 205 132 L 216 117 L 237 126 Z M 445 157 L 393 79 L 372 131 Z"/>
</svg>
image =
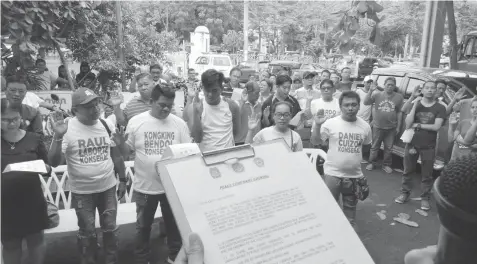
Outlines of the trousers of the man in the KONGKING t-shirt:
<svg viewBox="0 0 477 264">
<path fill-rule="evenodd" d="M 134 263 L 145 264 L 149 261 L 149 254 L 151 251 L 149 245 L 151 226 L 159 203 L 161 204 L 162 218 L 164 219 L 164 225 L 166 227 L 169 258 L 174 261 L 182 247 L 182 238 L 166 195 L 150 195 L 134 191 L 133 201 L 136 202 L 137 213 Z"/>
</svg>

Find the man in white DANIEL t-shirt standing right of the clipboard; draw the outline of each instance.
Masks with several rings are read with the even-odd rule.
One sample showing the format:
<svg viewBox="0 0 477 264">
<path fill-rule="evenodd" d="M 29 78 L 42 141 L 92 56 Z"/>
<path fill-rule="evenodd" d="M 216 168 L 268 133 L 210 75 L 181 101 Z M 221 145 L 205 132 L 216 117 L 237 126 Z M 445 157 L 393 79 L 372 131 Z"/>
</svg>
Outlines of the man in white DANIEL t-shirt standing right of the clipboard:
<svg viewBox="0 0 477 264">
<path fill-rule="evenodd" d="M 356 92 L 343 92 L 339 101 L 340 116 L 320 118 L 326 120 L 321 126 L 321 139 L 323 142 L 329 142 L 328 156 L 324 164 L 325 183 L 336 201 L 340 195 L 343 197 L 343 213 L 356 230 L 356 190 L 362 186 L 360 182 L 367 186 L 361 170 L 362 148 L 371 144 L 371 127 L 357 117 L 361 100 Z"/>
</svg>

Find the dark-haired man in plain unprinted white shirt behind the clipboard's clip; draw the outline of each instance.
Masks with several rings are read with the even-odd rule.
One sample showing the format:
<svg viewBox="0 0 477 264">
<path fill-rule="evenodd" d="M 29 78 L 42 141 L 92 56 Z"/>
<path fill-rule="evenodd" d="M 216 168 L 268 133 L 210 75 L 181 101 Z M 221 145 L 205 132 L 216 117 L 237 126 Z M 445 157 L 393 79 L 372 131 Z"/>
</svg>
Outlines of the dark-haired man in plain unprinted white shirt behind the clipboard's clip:
<svg viewBox="0 0 477 264">
<path fill-rule="evenodd" d="M 222 98 L 224 74 L 210 69 L 202 73 L 204 99 L 198 93 L 184 111 L 194 142 L 202 151 L 234 146 L 240 132 L 240 109 L 232 100 Z"/>
</svg>

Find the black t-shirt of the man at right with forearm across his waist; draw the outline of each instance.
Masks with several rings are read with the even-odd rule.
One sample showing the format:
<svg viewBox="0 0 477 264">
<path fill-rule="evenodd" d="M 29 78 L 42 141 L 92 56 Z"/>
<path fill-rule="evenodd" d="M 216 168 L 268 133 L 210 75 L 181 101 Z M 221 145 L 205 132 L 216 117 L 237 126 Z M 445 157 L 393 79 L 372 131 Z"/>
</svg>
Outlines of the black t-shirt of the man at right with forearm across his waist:
<svg viewBox="0 0 477 264">
<path fill-rule="evenodd" d="M 446 108 L 436 102 L 430 107 L 426 107 L 419 102 L 414 116 L 414 123 L 434 124 L 436 118 L 446 119 Z M 434 148 L 436 146 L 437 131 L 419 129 L 414 133 L 411 144 L 421 148 Z"/>
</svg>

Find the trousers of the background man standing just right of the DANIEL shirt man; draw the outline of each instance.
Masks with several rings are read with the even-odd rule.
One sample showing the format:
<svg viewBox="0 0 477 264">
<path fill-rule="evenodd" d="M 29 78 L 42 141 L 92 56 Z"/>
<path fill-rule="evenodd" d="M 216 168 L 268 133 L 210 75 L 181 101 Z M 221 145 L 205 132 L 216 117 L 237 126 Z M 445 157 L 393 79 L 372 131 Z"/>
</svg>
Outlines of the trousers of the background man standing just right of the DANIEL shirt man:
<svg viewBox="0 0 477 264">
<path fill-rule="evenodd" d="M 381 129 L 373 127 L 373 143 L 371 144 L 371 152 L 369 154 L 369 161 L 376 165 L 378 159 L 379 148 L 381 143 L 384 143 L 383 166 L 392 165 L 392 149 L 394 145 L 394 138 L 396 137 L 396 128 Z"/>
</svg>

